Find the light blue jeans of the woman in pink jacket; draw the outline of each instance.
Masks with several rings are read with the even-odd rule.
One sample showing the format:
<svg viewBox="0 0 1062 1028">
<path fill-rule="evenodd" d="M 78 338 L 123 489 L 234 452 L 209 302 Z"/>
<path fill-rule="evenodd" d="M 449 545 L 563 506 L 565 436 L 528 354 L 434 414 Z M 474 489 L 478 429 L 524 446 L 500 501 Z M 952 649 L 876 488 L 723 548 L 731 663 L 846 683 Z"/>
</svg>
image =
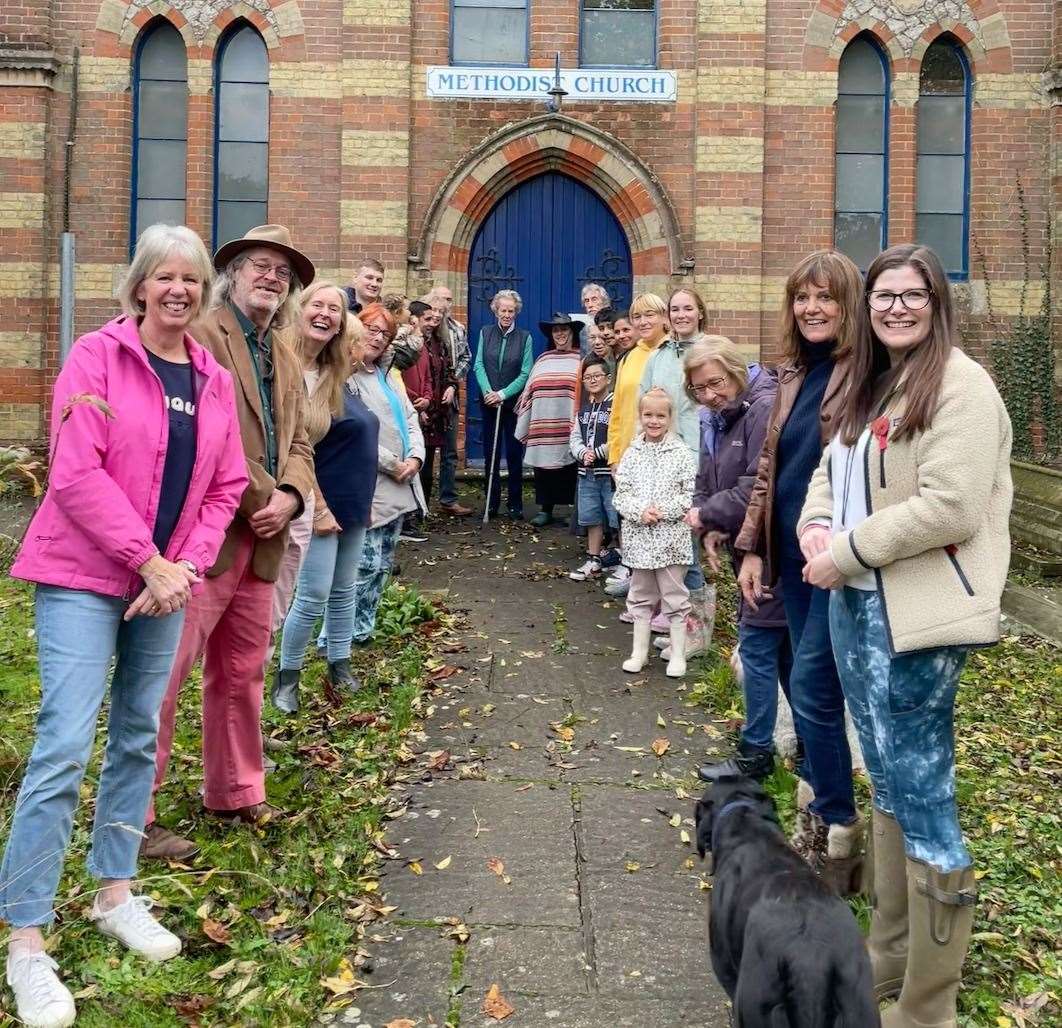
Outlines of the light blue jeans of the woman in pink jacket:
<svg viewBox="0 0 1062 1028">
<path fill-rule="evenodd" d="M 184 612 L 123 621 L 129 603 L 37 586 L 37 737 L 0 866 L 0 920 L 51 924 L 96 722 L 110 682 L 107 743 L 96 800 L 89 873 L 132 878 L 155 777 L 158 709 L 181 640 Z"/>
</svg>

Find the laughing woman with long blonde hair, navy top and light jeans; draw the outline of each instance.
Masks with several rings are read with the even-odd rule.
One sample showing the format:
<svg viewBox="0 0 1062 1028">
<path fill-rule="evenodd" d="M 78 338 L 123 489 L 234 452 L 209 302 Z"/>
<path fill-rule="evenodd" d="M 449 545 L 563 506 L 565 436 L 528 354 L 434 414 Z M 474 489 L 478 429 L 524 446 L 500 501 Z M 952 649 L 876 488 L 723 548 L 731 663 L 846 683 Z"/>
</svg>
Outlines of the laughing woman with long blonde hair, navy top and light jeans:
<svg viewBox="0 0 1062 1028">
<path fill-rule="evenodd" d="M 326 610 L 328 681 L 337 691 L 359 688 L 350 670 L 354 583 L 376 487 L 379 433 L 376 415 L 344 385 L 356 349 L 360 355 L 361 323 L 346 312 L 343 293 L 331 282 L 308 286 L 301 298 L 302 330 L 295 350 L 309 397 L 304 410 L 316 487 L 313 536 L 284 622 L 271 696 L 286 714 L 298 709 L 306 646 Z"/>
</svg>

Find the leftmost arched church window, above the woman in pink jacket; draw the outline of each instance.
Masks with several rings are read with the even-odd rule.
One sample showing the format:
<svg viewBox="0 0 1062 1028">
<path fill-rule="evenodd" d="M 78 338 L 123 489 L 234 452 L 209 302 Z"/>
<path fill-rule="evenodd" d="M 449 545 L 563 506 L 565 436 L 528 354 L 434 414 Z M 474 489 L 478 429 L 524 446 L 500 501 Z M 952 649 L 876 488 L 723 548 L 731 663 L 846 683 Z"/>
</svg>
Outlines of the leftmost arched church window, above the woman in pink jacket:
<svg viewBox="0 0 1062 1028">
<path fill-rule="evenodd" d="M 149 27 L 133 64 L 130 249 L 149 225 L 185 223 L 188 57 L 169 21 Z"/>
</svg>

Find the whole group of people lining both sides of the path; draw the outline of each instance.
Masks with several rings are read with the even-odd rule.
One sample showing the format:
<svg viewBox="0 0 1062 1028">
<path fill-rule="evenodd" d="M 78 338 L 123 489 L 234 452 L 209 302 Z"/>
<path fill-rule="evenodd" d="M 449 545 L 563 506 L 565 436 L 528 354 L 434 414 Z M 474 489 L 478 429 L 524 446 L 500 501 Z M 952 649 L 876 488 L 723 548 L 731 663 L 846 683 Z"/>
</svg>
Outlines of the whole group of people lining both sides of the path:
<svg viewBox="0 0 1062 1028">
<path fill-rule="evenodd" d="M 955 799 L 953 712 L 971 647 L 998 637 L 1009 563 L 1010 424 L 987 372 L 957 345 L 950 290 L 922 246 L 861 275 L 840 253 L 786 284 L 769 369 L 706 335 L 690 287 L 614 310 L 584 290 L 589 324 L 556 314 L 531 335 L 510 290 L 472 360 L 452 296 L 382 293 L 365 260 L 352 286 L 315 279 L 282 226 L 209 257 L 184 227 L 141 236 L 123 313 L 78 341 L 54 387 L 48 489 L 13 567 L 36 584 L 37 736 L 0 866 L 19 1017 L 69 1025 L 74 1003 L 41 932 L 69 844 L 109 681 L 88 857 L 91 918 L 150 960 L 181 940 L 133 892 L 139 857 L 188 859 L 155 819 L 181 685 L 203 657 L 203 805 L 262 822 L 260 716 L 299 704 L 318 638 L 328 680 L 359 688 L 404 525 L 423 517 L 441 457 L 452 477 L 464 375 L 481 393 L 487 509 L 523 516 L 523 464 L 545 527 L 573 504 L 587 554 L 611 569 L 632 653 L 654 629 L 667 674 L 710 633 L 704 556 L 732 561 L 741 599 L 747 719 L 707 781 L 774 764 L 781 684 L 801 741 L 798 851 L 839 892 L 864 849 L 845 701 L 873 789 L 870 952 L 889 1028 L 955 1023 L 975 902 Z M 449 470 L 447 469 L 449 468 Z"/>
</svg>

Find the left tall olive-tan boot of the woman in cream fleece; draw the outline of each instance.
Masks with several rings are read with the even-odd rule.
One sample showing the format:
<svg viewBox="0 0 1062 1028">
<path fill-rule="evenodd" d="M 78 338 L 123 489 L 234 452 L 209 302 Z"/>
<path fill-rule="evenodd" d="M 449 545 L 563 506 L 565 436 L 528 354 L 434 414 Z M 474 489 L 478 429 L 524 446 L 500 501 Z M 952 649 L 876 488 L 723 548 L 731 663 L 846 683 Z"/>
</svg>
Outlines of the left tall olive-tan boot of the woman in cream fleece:
<svg viewBox="0 0 1062 1028">
<path fill-rule="evenodd" d="M 870 962 L 874 998 L 894 999 L 907 969 L 907 855 L 896 819 L 874 808 L 871 816 L 874 852 L 874 913 L 870 922 Z"/>
</svg>

